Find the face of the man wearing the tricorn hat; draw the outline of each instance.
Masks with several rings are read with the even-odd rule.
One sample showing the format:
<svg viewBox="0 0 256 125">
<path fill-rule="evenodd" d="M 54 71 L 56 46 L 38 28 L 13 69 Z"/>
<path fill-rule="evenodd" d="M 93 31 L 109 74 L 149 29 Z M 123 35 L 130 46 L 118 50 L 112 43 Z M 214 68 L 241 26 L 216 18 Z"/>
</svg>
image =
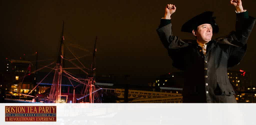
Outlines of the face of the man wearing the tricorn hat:
<svg viewBox="0 0 256 125">
<path fill-rule="evenodd" d="M 212 27 L 210 24 L 202 24 L 197 27 L 196 31 L 197 40 L 208 43 L 212 37 Z"/>
</svg>

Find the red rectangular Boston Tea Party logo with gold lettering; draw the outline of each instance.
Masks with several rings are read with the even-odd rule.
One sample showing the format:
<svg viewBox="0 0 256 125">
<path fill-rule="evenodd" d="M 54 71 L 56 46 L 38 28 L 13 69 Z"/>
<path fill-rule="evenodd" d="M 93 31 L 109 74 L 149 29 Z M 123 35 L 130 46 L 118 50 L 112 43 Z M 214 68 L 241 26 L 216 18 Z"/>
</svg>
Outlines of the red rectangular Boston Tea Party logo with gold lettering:
<svg viewBox="0 0 256 125">
<path fill-rule="evenodd" d="M 56 121 L 56 106 L 5 106 L 5 121 Z"/>
</svg>

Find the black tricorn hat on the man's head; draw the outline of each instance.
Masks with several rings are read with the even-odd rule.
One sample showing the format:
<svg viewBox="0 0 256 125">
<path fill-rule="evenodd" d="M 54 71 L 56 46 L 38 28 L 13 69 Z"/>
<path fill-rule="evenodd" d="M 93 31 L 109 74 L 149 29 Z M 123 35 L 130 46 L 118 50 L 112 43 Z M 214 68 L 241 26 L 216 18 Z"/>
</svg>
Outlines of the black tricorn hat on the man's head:
<svg viewBox="0 0 256 125">
<path fill-rule="evenodd" d="M 219 26 L 215 23 L 216 17 L 212 17 L 213 12 L 207 11 L 201 13 L 192 19 L 188 20 L 185 24 L 182 25 L 181 31 L 192 33 L 193 30 L 196 30 L 198 26 L 202 24 L 211 24 L 212 33 L 219 32 Z"/>
</svg>

